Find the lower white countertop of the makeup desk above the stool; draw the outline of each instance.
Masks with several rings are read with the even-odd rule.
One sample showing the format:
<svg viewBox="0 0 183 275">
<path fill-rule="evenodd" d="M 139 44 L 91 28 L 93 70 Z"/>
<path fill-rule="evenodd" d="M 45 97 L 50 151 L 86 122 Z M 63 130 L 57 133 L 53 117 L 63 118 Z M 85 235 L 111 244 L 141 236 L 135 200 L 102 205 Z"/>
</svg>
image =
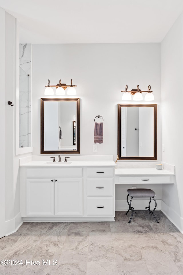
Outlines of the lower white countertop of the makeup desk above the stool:
<svg viewBox="0 0 183 275">
<path fill-rule="evenodd" d="M 165 175 L 175 175 L 174 172 L 162 169 L 158 170 L 156 168 L 117 168 L 115 169 L 115 175 L 120 176 L 165 176 Z"/>
</svg>

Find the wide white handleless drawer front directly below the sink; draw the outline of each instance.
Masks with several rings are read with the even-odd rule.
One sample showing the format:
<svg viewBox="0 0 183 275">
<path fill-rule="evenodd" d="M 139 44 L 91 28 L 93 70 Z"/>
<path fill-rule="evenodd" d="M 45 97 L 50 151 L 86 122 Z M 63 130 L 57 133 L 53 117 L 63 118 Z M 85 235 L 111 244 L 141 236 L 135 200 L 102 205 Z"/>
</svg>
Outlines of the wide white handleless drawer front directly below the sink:
<svg viewBox="0 0 183 275">
<path fill-rule="evenodd" d="M 82 168 L 27 168 L 27 177 L 82 177 Z"/>
</svg>

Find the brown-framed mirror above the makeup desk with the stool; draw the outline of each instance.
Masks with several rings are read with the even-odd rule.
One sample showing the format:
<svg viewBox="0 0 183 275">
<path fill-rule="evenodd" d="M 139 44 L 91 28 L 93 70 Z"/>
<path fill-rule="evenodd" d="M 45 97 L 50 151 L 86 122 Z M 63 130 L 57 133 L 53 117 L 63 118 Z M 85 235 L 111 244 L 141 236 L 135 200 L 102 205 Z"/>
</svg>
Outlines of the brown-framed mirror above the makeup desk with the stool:
<svg viewBox="0 0 183 275">
<path fill-rule="evenodd" d="M 157 104 L 118 104 L 118 156 L 157 160 Z"/>
</svg>

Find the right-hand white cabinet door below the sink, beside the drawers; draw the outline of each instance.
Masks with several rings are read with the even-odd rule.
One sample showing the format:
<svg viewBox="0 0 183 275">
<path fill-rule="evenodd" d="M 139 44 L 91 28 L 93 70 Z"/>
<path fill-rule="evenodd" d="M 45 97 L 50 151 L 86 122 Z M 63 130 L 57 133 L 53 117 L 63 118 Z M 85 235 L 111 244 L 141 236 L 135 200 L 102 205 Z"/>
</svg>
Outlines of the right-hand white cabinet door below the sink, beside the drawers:
<svg viewBox="0 0 183 275">
<path fill-rule="evenodd" d="M 82 179 L 55 179 L 55 216 L 83 216 Z"/>
</svg>

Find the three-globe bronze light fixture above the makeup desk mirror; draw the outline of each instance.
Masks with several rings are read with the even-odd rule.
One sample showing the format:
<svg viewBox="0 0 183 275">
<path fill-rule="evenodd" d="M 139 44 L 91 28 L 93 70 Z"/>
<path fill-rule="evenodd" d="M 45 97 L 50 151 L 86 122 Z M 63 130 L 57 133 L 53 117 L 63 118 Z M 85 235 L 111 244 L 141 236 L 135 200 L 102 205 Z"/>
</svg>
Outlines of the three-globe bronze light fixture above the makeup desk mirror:
<svg viewBox="0 0 183 275">
<path fill-rule="evenodd" d="M 131 100 L 132 99 L 132 96 L 133 95 L 133 100 L 135 101 L 140 101 L 143 99 L 142 97 L 142 93 L 147 93 L 145 95 L 145 98 L 144 100 L 145 101 L 152 101 L 154 100 L 154 95 L 152 94 L 152 91 L 151 91 L 151 86 L 149 85 L 148 86 L 148 90 L 147 91 L 141 91 L 139 89 L 139 85 L 137 85 L 137 89 L 132 89 L 131 91 L 128 91 L 128 85 L 126 85 L 126 88 L 125 88 L 125 91 L 122 91 L 122 92 L 125 92 L 122 96 L 122 100 Z"/>
</svg>

